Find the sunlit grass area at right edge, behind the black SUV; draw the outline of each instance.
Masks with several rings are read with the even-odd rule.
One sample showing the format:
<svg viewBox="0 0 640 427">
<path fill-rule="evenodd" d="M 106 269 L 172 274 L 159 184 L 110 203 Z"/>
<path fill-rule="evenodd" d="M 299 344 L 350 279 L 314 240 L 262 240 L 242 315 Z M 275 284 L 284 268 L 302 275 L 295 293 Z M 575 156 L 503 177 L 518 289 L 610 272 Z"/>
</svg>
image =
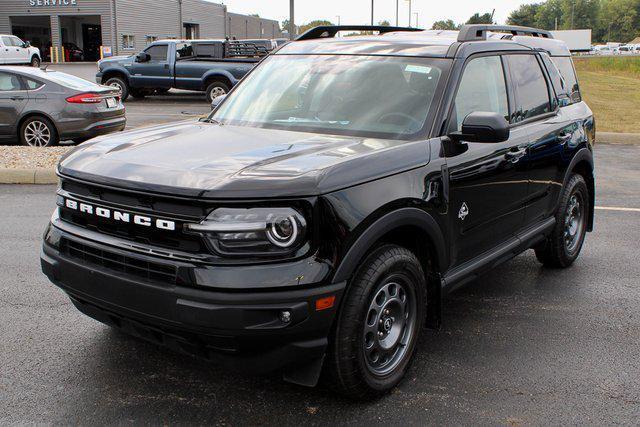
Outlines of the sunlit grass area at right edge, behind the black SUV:
<svg viewBox="0 0 640 427">
<path fill-rule="evenodd" d="M 640 133 L 640 57 L 574 58 L 596 130 Z"/>
</svg>

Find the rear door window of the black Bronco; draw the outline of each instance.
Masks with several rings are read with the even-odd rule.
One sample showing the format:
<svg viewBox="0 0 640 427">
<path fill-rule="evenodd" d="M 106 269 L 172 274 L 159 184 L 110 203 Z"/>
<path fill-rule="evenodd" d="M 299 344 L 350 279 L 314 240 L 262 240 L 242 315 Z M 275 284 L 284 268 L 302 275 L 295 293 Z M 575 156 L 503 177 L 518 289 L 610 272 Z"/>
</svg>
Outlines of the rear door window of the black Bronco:
<svg viewBox="0 0 640 427">
<path fill-rule="evenodd" d="M 550 112 L 549 88 L 535 55 L 509 55 L 507 60 L 516 87 L 516 121 Z"/>
</svg>

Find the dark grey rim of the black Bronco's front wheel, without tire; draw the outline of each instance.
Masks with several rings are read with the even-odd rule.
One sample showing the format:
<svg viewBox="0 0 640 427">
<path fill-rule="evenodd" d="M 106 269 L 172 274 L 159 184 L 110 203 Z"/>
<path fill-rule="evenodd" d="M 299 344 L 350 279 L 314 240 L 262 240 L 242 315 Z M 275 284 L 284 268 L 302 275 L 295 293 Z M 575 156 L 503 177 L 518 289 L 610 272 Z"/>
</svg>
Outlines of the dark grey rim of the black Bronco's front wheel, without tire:
<svg viewBox="0 0 640 427">
<path fill-rule="evenodd" d="M 417 322 L 416 297 L 404 275 L 385 280 L 373 294 L 362 334 L 367 369 L 392 372 L 405 359 Z"/>
</svg>

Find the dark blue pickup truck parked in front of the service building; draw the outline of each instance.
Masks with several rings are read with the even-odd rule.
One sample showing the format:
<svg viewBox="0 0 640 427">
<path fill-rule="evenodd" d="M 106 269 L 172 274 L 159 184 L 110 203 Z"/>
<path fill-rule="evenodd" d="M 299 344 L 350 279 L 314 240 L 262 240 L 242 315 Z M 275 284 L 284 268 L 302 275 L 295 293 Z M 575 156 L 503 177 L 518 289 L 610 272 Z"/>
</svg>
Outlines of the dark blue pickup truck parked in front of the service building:
<svg viewBox="0 0 640 427">
<path fill-rule="evenodd" d="M 137 55 L 98 62 L 96 81 L 144 98 L 171 88 L 225 95 L 268 51 L 242 40 L 160 40 Z"/>
</svg>

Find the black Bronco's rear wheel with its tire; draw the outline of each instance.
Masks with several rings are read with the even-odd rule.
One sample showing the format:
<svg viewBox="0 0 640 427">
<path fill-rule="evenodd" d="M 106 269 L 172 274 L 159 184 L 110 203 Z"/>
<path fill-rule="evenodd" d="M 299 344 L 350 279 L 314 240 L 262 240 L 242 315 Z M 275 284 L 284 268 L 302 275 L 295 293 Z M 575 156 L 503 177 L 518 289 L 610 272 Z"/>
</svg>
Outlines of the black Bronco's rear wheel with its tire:
<svg viewBox="0 0 640 427">
<path fill-rule="evenodd" d="M 590 202 L 584 178 L 572 175 L 562 190 L 553 232 L 535 249 L 536 258 L 545 267 L 567 268 L 578 258 L 587 234 Z"/>
</svg>

